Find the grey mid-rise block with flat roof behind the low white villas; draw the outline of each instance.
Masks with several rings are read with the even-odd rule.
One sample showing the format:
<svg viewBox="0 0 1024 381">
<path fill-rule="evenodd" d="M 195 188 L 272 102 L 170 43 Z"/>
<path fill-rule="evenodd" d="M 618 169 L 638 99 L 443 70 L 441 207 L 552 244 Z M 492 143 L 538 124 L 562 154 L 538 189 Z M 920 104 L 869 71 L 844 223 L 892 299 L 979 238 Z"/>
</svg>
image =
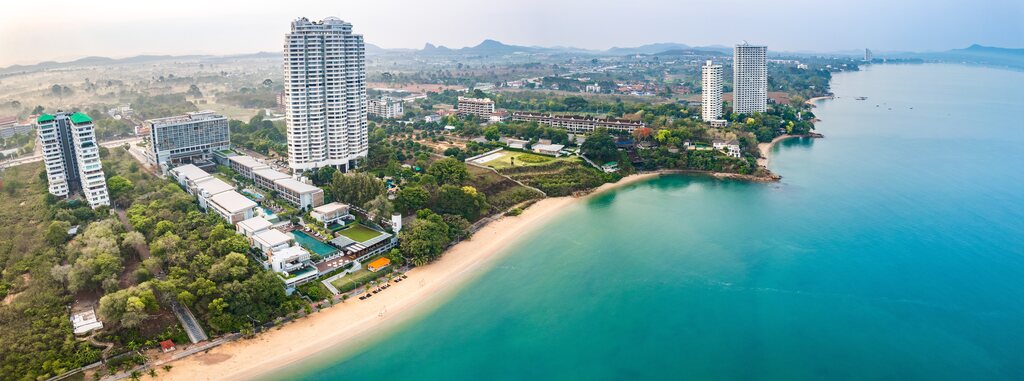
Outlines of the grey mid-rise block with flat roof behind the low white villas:
<svg viewBox="0 0 1024 381">
<path fill-rule="evenodd" d="M 151 119 L 146 159 L 166 170 L 180 163 L 208 161 L 213 154 L 230 147 L 227 118 L 211 111 Z"/>
</svg>

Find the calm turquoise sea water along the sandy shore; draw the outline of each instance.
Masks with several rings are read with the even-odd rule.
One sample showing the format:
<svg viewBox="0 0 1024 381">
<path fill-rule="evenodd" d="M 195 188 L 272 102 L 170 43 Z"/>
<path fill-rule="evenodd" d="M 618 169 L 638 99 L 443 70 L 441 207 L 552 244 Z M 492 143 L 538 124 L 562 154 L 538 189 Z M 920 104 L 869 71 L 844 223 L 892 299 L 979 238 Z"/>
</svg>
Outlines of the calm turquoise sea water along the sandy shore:
<svg viewBox="0 0 1024 381">
<path fill-rule="evenodd" d="M 827 137 L 776 149 L 781 183 L 592 198 L 435 311 L 271 378 L 1024 379 L 1022 89 L 959 66 L 837 75 Z"/>
</svg>

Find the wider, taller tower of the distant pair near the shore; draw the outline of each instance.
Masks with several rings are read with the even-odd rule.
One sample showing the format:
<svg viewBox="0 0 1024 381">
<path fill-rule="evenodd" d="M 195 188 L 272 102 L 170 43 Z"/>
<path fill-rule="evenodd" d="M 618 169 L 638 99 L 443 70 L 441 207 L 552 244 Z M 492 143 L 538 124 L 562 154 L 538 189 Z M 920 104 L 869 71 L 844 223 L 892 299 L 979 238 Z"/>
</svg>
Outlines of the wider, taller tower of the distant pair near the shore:
<svg viewBox="0 0 1024 381">
<path fill-rule="evenodd" d="M 768 111 L 768 47 L 736 45 L 732 53 L 732 112 Z"/>
</svg>

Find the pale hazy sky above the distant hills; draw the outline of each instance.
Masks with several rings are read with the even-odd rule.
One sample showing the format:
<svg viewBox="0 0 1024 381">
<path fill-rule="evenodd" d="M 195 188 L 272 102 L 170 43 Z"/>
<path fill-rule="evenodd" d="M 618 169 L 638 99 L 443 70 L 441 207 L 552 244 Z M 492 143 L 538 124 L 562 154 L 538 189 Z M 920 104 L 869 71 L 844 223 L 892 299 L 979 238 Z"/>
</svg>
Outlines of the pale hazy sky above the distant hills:
<svg viewBox="0 0 1024 381">
<path fill-rule="evenodd" d="M 771 50 L 1024 47 L 1021 0 L 3 0 L 0 67 L 136 54 L 280 51 L 289 22 L 335 15 L 383 47 L 653 42 Z"/>
</svg>

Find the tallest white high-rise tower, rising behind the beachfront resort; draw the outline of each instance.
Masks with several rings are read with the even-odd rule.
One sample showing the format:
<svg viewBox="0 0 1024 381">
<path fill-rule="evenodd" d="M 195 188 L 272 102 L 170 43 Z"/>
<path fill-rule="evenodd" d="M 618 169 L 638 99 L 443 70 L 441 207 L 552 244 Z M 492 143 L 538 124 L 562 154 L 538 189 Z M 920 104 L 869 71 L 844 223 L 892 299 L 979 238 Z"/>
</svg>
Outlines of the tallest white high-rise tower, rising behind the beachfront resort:
<svg viewBox="0 0 1024 381">
<path fill-rule="evenodd" d="M 335 17 L 292 22 L 285 35 L 288 164 L 349 170 L 367 157 L 367 61 L 361 35 Z"/>
</svg>

